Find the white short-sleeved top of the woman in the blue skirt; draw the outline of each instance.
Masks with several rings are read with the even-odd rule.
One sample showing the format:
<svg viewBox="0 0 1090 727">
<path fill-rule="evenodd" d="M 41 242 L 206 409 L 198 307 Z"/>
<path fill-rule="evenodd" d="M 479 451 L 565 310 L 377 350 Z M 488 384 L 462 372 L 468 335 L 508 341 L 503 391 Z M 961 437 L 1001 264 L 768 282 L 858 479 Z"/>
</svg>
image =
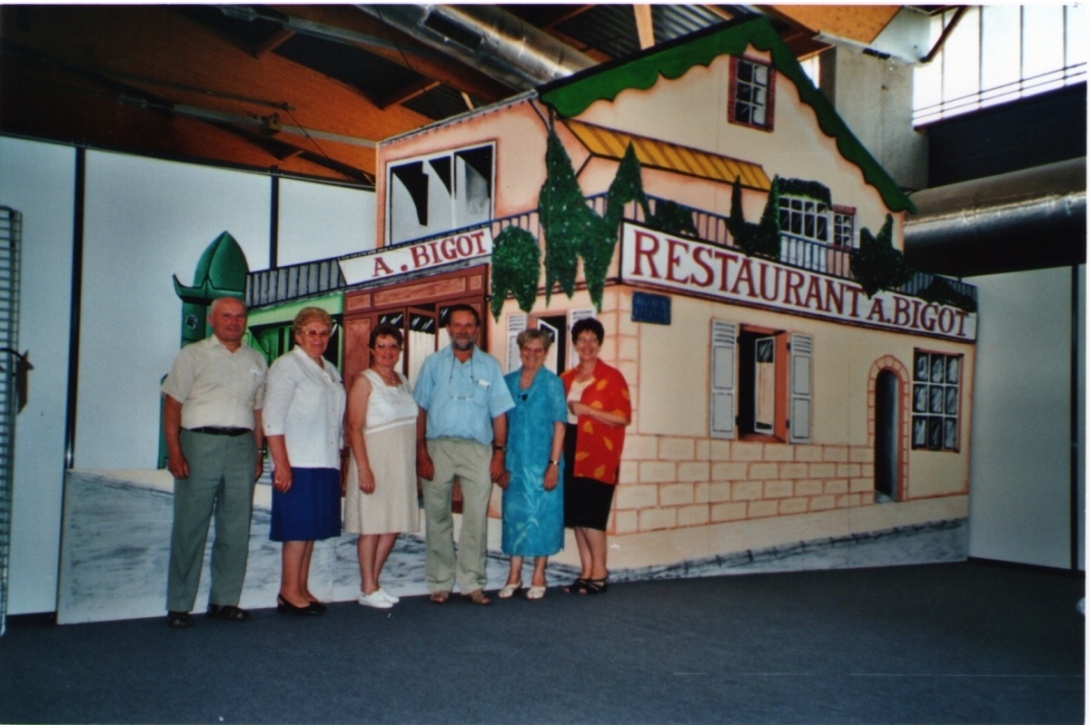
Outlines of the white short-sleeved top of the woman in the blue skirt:
<svg viewBox="0 0 1090 727">
<path fill-rule="evenodd" d="M 340 469 L 346 399 L 337 367 L 325 359 L 319 367 L 296 346 L 269 368 L 265 436 L 283 435 L 292 467 Z"/>
</svg>

